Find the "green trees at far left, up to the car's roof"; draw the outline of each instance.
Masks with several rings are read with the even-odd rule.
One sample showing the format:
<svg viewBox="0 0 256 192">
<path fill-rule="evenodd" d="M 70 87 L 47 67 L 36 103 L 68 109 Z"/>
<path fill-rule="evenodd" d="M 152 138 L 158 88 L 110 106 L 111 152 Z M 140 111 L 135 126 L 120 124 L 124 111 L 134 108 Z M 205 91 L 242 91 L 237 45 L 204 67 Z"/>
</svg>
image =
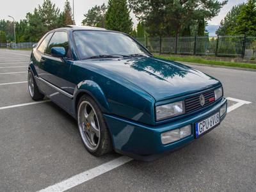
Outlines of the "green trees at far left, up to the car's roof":
<svg viewBox="0 0 256 192">
<path fill-rule="evenodd" d="M 26 19 L 15 22 L 16 42 L 37 42 L 47 31 L 68 24 L 75 24 L 69 1 L 60 12 L 51 0 L 44 0 L 33 13 L 26 14 Z M 0 20 L 0 42 L 14 42 L 13 25 L 9 20 Z"/>
</svg>

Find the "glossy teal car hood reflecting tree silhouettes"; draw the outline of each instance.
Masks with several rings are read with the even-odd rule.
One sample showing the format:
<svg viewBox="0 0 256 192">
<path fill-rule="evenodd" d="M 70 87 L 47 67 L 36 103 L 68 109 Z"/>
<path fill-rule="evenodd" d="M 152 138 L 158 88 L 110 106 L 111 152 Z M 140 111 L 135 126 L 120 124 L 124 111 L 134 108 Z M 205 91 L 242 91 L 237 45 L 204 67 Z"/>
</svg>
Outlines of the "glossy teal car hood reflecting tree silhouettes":
<svg viewBox="0 0 256 192">
<path fill-rule="evenodd" d="M 175 61 L 157 58 L 84 60 L 104 75 L 122 77 L 156 99 L 165 100 L 200 92 L 221 84 L 214 77 Z M 87 65 L 88 66 L 88 65 Z"/>
</svg>

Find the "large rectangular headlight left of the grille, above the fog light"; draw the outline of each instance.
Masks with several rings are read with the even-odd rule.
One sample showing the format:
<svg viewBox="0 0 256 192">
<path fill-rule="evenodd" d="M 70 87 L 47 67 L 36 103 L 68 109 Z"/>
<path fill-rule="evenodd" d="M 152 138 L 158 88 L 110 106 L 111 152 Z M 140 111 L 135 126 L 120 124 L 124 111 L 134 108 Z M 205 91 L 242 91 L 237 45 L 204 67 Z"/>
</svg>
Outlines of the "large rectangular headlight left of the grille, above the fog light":
<svg viewBox="0 0 256 192">
<path fill-rule="evenodd" d="M 184 101 L 173 102 L 163 106 L 156 107 L 156 120 L 162 120 L 171 116 L 181 115 L 185 113 Z"/>
</svg>

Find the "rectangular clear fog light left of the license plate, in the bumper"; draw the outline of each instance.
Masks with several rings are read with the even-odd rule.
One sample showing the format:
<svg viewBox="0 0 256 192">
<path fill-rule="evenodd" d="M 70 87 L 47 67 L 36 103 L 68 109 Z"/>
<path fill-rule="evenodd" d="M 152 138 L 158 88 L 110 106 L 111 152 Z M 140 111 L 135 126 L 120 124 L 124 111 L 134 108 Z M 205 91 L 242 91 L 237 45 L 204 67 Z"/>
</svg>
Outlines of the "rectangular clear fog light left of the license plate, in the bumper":
<svg viewBox="0 0 256 192">
<path fill-rule="evenodd" d="M 181 140 L 182 138 L 186 138 L 189 135 L 191 135 L 191 125 L 168 132 L 163 132 L 161 134 L 161 141 L 163 144 L 172 143 L 174 141 Z"/>
</svg>

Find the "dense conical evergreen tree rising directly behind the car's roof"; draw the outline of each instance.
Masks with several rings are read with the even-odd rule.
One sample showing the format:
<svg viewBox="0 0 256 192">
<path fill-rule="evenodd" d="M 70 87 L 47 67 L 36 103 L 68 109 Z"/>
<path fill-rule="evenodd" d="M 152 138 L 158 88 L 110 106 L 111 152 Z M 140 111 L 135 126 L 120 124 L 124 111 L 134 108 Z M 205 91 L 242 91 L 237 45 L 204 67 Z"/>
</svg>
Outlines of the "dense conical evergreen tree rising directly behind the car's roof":
<svg viewBox="0 0 256 192">
<path fill-rule="evenodd" d="M 130 34 L 132 19 L 126 0 L 109 0 L 106 12 L 106 28 Z"/>
</svg>

